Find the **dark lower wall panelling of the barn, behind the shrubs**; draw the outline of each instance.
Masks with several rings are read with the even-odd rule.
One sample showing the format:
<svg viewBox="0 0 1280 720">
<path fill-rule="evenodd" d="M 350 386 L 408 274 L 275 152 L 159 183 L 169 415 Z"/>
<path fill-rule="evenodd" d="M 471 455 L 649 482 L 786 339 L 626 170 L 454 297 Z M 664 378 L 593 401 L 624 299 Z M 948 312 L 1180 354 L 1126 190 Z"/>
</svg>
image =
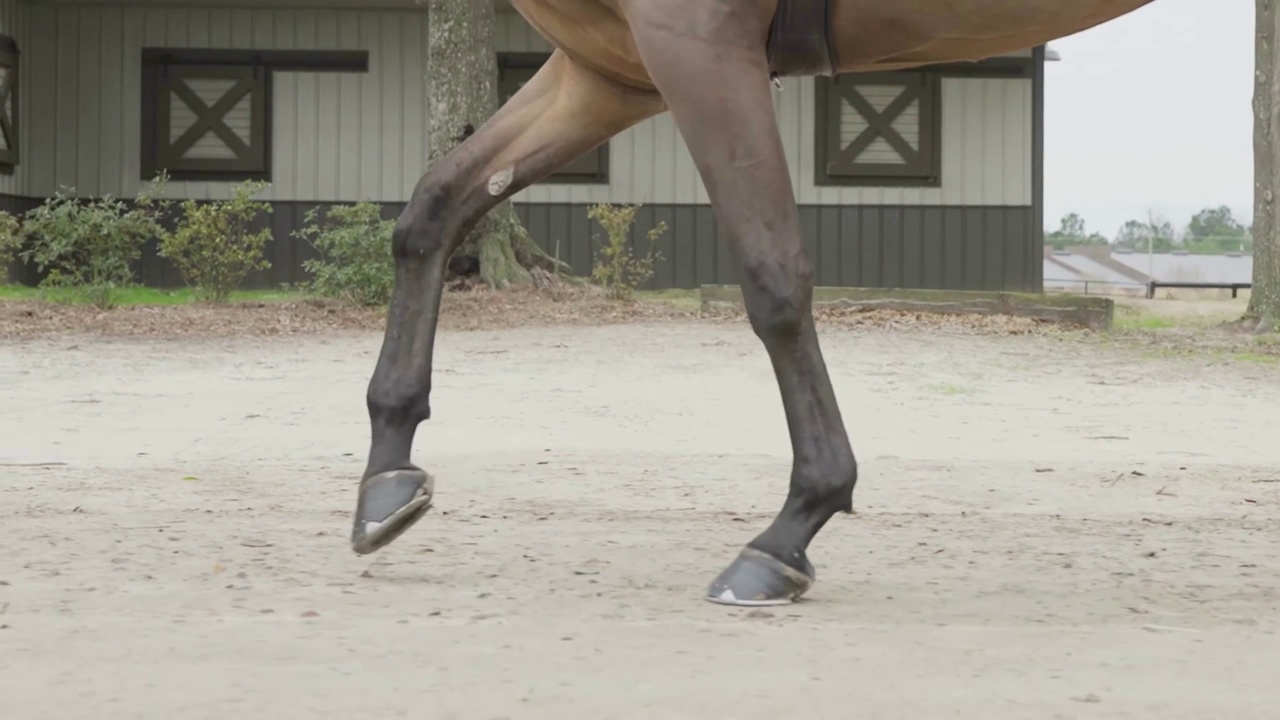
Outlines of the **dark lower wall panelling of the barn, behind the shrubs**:
<svg viewBox="0 0 1280 720">
<path fill-rule="evenodd" d="M 0 208 L 24 211 L 37 201 L 0 197 Z M 273 202 L 268 247 L 271 268 L 253 273 L 246 287 L 271 288 L 307 278 L 302 263 L 315 256 L 310 243 L 293 237 L 314 202 Z M 329 204 L 320 204 L 329 206 Z M 394 218 L 403 204 L 387 204 Z M 603 231 L 586 217 L 589 205 L 516 205 L 534 240 L 559 254 L 575 274 L 591 272 Z M 657 243 L 662 260 L 650 288 L 692 288 L 704 283 L 736 283 L 736 261 L 717 237 L 716 218 L 705 205 L 643 206 L 632 242 L 644 242 L 649 228 L 667 223 Z M 1005 206 L 801 206 L 800 227 L 818 284 L 950 290 L 1039 291 L 1042 256 L 1032 208 Z M 558 245 L 558 247 L 557 247 Z M 143 254 L 140 281 L 179 287 L 177 270 L 156 255 L 155 242 Z M 29 282 L 23 270 L 18 278 Z"/>
</svg>

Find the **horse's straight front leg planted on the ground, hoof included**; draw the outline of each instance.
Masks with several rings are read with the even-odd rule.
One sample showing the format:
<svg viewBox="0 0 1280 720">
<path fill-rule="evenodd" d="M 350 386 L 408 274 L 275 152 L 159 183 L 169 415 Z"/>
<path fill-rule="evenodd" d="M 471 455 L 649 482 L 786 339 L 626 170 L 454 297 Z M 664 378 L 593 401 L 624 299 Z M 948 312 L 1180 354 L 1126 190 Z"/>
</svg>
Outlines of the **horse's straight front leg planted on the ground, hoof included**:
<svg viewBox="0 0 1280 720">
<path fill-rule="evenodd" d="M 818 348 L 813 270 L 773 115 L 768 19 L 754 3 L 719 0 L 635 1 L 625 12 L 737 255 L 746 311 L 773 363 L 791 433 L 786 502 L 716 578 L 708 600 L 786 603 L 813 584 L 810 541 L 852 509 L 858 465 Z"/>
</svg>

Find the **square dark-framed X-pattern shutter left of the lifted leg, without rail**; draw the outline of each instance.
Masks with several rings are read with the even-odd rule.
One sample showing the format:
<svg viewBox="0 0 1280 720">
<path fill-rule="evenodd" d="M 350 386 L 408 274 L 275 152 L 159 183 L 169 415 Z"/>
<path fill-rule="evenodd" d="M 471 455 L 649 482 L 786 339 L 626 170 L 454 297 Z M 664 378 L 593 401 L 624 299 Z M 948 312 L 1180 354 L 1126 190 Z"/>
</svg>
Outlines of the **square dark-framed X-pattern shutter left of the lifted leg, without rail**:
<svg viewBox="0 0 1280 720">
<path fill-rule="evenodd" d="M 157 94 L 161 168 L 191 173 L 265 173 L 266 77 L 262 68 L 170 65 Z"/>
</svg>

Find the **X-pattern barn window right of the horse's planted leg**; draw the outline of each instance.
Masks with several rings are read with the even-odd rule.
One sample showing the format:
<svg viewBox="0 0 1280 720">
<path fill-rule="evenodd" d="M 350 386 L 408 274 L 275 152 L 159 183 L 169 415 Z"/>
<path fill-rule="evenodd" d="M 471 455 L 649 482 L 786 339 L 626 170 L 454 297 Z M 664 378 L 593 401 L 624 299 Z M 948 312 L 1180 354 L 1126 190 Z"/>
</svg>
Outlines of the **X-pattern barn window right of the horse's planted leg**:
<svg viewBox="0 0 1280 720">
<path fill-rule="evenodd" d="M 815 82 L 817 184 L 941 184 L 938 73 L 859 73 Z"/>
</svg>

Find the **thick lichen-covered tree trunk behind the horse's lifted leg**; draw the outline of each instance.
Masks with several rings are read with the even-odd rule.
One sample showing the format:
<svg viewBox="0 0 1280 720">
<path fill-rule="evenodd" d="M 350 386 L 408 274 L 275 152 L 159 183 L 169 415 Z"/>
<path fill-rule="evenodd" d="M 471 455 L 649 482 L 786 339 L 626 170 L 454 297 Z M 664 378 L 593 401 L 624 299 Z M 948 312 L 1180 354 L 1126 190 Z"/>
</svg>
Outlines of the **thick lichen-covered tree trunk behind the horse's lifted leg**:
<svg viewBox="0 0 1280 720">
<path fill-rule="evenodd" d="M 430 0 L 428 13 L 428 163 L 434 165 L 498 109 L 498 59 L 493 3 Z M 511 201 L 476 224 L 449 266 L 453 274 L 477 273 L 494 288 L 541 284 L 563 269 L 534 243 Z"/>
</svg>

